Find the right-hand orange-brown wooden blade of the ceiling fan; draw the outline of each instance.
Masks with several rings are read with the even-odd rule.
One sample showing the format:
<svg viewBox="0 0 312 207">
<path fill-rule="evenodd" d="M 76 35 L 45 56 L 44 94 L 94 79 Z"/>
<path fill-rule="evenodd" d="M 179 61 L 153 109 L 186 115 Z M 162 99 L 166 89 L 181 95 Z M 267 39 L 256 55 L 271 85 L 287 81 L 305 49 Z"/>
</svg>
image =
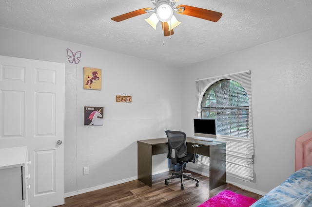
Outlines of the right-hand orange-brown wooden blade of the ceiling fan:
<svg viewBox="0 0 312 207">
<path fill-rule="evenodd" d="M 182 15 L 188 15 L 192 17 L 202 18 L 209 21 L 217 22 L 221 17 L 222 13 L 215 12 L 208 9 L 202 9 L 194 6 L 188 6 L 188 5 L 178 5 L 176 8 L 184 7 L 184 11 L 182 13 L 177 12 L 178 14 Z"/>
</svg>

